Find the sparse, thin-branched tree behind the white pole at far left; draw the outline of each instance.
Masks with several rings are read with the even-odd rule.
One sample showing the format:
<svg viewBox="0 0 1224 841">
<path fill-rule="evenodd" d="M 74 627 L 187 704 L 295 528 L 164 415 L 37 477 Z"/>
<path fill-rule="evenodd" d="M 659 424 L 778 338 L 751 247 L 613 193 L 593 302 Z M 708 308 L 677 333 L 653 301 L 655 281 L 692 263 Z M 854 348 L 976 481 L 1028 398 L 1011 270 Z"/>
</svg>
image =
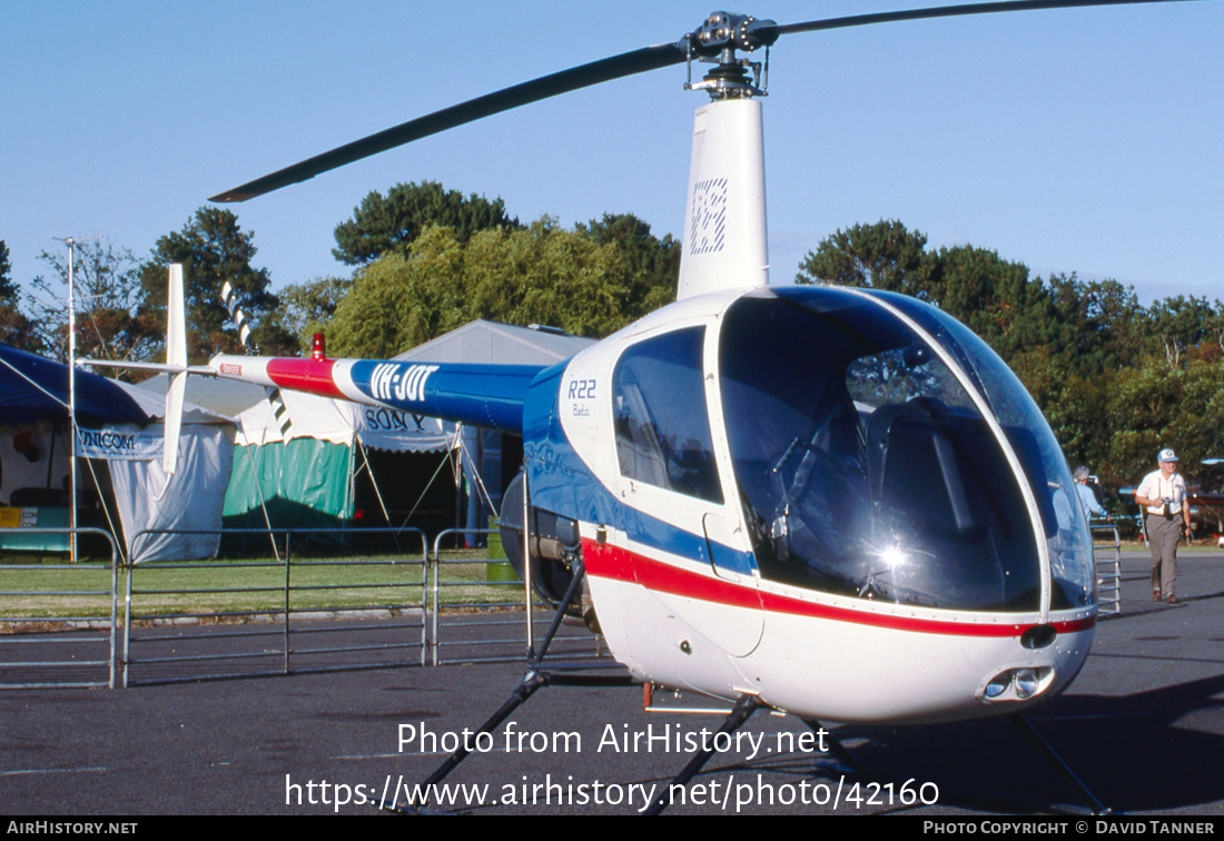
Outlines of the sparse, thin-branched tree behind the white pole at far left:
<svg viewBox="0 0 1224 841">
<path fill-rule="evenodd" d="M 34 278 L 40 293 L 31 300 L 40 344 L 61 361 L 69 356 L 69 255 L 59 250 L 38 256 L 51 278 Z M 129 249 L 109 239 L 78 240 L 72 257 L 78 357 L 147 361 L 163 344 L 162 326 L 149 312 L 140 266 Z M 130 377 L 130 372 L 120 372 Z"/>
</svg>

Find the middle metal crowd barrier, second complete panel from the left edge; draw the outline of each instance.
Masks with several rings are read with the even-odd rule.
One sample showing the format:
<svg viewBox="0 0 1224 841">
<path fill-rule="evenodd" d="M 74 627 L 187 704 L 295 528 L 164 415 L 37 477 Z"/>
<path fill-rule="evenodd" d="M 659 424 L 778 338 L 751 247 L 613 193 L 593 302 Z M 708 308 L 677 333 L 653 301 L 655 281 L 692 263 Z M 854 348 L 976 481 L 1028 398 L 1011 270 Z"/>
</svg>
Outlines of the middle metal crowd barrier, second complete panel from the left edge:
<svg viewBox="0 0 1224 841">
<path fill-rule="evenodd" d="M 151 530 L 268 539 L 275 561 L 142 562 L 129 568 L 122 686 L 425 665 L 427 542 L 420 529 Z M 307 540 L 410 539 L 373 558 L 297 557 Z M 401 547 L 400 547 L 401 550 Z M 164 583 L 159 583 L 159 579 Z M 192 611 L 174 610 L 182 596 Z M 229 610 L 208 610 L 209 602 Z M 346 622 L 321 623 L 319 618 Z"/>
</svg>

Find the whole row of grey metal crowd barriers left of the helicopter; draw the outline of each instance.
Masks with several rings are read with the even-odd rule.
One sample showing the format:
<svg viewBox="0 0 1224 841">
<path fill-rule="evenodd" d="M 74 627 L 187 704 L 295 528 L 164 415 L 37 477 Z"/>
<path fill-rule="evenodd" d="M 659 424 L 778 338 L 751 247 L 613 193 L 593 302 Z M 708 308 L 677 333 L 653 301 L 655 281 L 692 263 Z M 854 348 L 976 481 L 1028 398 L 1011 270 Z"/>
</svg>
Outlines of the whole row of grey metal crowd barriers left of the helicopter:
<svg viewBox="0 0 1224 841">
<path fill-rule="evenodd" d="M 22 530 L 38 533 L 73 534 Z M 7 616 L 0 616 L 0 688 L 514 661 L 525 657 L 531 639 L 525 585 L 509 563 L 447 548 L 460 537 L 496 535 L 491 529 L 448 529 L 436 536 L 432 555 L 419 529 L 147 530 L 133 536 L 135 548 L 166 534 L 247 545 L 235 552 L 223 544 L 218 559 L 136 564 L 121 561 L 106 533 L 76 530 L 86 533 L 108 541 L 108 563 L 0 564 L 0 595 L 9 597 Z M 395 551 L 337 558 L 308 548 L 310 540 L 345 545 L 372 537 L 394 537 Z M 5 586 L 6 573 L 10 584 L 21 584 Z M 88 608 L 73 610 L 87 599 Z M 532 627 L 546 627 L 552 616 L 552 607 L 532 600 Z M 323 618 L 339 621 L 317 621 Z M 64 655 L 31 656 L 33 643 Z M 603 654 L 585 627 L 563 629 L 552 650 L 573 660 Z M 44 677 L 43 667 L 55 671 Z"/>
</svg>

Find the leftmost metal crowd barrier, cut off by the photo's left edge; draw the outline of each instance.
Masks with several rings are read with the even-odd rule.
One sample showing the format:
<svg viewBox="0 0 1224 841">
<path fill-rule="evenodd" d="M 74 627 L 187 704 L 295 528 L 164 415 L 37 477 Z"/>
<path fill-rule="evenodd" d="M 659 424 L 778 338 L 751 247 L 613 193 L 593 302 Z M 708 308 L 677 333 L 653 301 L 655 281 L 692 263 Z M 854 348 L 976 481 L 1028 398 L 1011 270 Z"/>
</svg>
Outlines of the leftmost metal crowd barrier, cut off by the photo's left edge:
<svg viewBox="0 0 1224 841">
<path fill-rule="evenodd" d="M 0 563 L 0 597 L 17 604 L 0 617 L 0 689 L 115 687 L 119 551 L 102 529 L 21 529 L 21 535 L 97 535 L 110 559 Z M 12 586 L 15 578 L 27 586 Z M 33 586 L 28 586 L 33 585 Z M 97 610 L 109 611 L 109 621 Z"/>
</svg>

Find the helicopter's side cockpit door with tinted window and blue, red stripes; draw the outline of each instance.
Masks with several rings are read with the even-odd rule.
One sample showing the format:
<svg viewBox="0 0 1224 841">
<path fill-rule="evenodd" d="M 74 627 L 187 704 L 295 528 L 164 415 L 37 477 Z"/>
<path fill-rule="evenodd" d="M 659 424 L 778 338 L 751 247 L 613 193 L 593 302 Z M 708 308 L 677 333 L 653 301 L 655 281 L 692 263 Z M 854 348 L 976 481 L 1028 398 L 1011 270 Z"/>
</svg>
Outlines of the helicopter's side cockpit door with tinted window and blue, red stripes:
<svg viewBox="0 0 1224 841">
<path fill-rule="evenodd" d="M 711 333 L 693 323 L 622 353 L 612 377 L 617 460 L 622 499 L 640 512 L 638 521 L 651 524 L 641 533 L 644 551 L 654 544 L 685 558 L 644 562 L 639 583 L 677 618 L 743 656 L 760 640 L 763 617 L 726 436 L 721 420 L 710 417 L 718 405 L 706 365 L 717 338 Z"/>
</svg>

